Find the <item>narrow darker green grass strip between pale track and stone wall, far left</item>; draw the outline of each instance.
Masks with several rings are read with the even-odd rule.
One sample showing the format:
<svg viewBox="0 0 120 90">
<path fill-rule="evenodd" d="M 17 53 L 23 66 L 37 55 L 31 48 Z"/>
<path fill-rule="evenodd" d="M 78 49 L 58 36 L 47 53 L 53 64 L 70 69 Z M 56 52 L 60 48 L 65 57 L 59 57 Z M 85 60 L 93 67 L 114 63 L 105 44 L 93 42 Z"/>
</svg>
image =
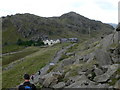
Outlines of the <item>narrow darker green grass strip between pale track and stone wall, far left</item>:
<svg viewBox="0 0 120 90">
<path fill-rule="evenodd" d="M 29 47 L 29 48 L 26 48 L 25 50 L 23 50 L 22 52 L 3 56 L 2 57 L 2 65 L 7 65 L 13 61 L 23 58 L 29 54 L 32 54 L 32 53 L 38 51 L 38 49 L 39 48 L 36 48 L 36 47 Z"/>
</svg>

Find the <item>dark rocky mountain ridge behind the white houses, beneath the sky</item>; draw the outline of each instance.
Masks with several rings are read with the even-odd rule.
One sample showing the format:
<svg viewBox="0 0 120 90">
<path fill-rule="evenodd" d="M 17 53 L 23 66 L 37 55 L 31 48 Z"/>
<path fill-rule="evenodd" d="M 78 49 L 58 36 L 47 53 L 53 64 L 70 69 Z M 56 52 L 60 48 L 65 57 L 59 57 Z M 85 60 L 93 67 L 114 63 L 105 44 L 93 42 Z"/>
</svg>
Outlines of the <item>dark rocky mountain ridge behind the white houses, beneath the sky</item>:
<svg viewBox="0 0 120 90">
<path fill-rule="evenodd" d="M 90 20 L 75 12 L 69 12 L 60 17 L 40 17 L 33 14 L 16 14 L 2 17 L 3 44 L 16 43 L 20 38 L 56 39 L 67 37 L 91 37 L 109 34 L 114 29 L 100 21 Z"/>
</svg>

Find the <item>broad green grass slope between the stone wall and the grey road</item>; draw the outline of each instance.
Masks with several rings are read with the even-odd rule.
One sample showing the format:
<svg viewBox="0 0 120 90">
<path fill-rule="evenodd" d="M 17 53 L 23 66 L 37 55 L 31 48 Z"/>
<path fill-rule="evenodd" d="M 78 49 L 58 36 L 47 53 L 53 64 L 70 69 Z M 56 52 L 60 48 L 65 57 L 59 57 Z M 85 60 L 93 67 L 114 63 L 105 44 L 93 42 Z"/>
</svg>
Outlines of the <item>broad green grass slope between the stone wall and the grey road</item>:
<svg viewBox="0 0 120 90">
<path fill-rule="evenodd" d="M 66 44 L 57 44 L 52 47 L 42 48 L 39 51 L 28 55 L 25 60 L 15 67 L 3 71 L 3 88 L 16 87 L 23 82 L 23 74 L 34 74 L 40 68 L 49 63 L 55 53 Z"/>
</svg>

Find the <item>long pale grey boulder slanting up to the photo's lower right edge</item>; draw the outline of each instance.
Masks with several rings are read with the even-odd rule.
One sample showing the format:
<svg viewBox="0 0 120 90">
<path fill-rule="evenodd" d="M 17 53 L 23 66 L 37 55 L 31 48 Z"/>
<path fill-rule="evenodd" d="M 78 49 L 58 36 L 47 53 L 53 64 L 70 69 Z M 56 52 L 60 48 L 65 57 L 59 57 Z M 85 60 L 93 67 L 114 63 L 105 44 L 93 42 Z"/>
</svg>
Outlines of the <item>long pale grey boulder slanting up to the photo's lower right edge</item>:
<svg viewBox="0 0 120 90">
<path fill-rule="evenodd" d="M 107 66 L 108 70 L 106 73 L 102 74 L 102 75 L 98 75 L 94 78 L 95 82 L 107 82 L 110 77 L 117 71 L 118 69 L 118 64 L 113 64 L 113 65 L 109 65 Z"/>
</svg>

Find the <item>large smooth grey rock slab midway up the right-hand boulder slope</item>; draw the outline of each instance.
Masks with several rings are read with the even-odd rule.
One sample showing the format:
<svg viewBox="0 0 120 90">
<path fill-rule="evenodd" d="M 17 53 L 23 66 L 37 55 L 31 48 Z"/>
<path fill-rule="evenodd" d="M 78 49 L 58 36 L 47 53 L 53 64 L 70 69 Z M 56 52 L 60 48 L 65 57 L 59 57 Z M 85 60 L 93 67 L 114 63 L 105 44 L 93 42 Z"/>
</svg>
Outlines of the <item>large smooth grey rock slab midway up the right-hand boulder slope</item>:
<svg viewBox="0 0 120 90">
<path fill-rule="evenodd" d="M 100 49 L 97 50 L 96 53 L 95 53 L 95 58 L 98 61 L 98 64 L 100 66 L 112 64 L 109 53 L 107 53 L 103 50 L 100 50 Z"/>
</svg>

